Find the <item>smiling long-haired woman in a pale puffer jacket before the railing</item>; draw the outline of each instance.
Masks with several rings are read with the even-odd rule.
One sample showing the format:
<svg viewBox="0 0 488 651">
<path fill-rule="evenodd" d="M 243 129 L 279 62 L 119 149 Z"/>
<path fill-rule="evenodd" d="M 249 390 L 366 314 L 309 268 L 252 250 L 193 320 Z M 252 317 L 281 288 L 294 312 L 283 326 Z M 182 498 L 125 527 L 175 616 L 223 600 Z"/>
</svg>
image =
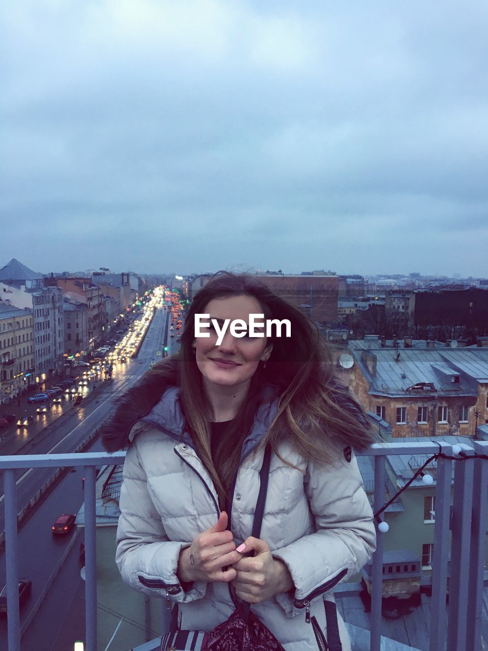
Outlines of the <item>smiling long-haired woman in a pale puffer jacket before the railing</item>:
<svg viewBox="0 0 488 651">
<path fill-rule="evenodd" d="M 195 337 L 195 314 L 209 314 L 217 330 L 226 319 L 249 324 L 250 314 L 287 319 L 290 337 L 227 329 L 217 345 L 213 327 Z M 178 603 L 182 629 L 210 631 L 243 600 L 286 651 L 316 650 L 310 619 L 327 631 L 323 600 L 336 616 L 332 588 L 375 549 L 351 450 L 372 440 L 364 412 L 332 380 L 314 324 L 255 277 L 215 275 L 193 300 L 178 355 L 147 372 L 103 430 L 105 449 L 128 445 L 122 578 Z M 274 453 L 258 540 L 251 531 L 266 443 Z"/>
</svg>

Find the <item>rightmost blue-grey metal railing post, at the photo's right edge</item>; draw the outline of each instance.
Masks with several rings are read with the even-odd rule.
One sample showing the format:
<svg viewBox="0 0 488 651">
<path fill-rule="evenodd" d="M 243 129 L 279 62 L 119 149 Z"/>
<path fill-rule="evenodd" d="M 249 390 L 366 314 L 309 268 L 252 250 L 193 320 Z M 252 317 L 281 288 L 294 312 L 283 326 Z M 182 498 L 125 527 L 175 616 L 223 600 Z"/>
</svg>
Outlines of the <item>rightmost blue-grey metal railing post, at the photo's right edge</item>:
<svg viewBox="0 0 488 651">
<path fill-rule="evenodd" d="M 474 450 L 476 454 L 487 454 L 488 451 L 487 446 L 476 441 Z M 484 459 L 474 459 L 466 651 L 479 651 L 481 648 L 487 498 L 488 464 Z"/>
</svg>

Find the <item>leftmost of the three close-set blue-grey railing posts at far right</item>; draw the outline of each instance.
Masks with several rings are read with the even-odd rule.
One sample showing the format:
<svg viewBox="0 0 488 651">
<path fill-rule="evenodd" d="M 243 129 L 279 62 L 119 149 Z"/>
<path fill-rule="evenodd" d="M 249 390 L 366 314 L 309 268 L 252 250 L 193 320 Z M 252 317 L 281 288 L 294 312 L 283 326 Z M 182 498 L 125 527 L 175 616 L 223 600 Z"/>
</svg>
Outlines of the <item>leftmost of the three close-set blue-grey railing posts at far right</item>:
<svg viewBox="0 0 488 651">
<path fill-rule="evenodd" d="M 442 452 L 452 456 L 452 447 L 441 443 Z M 451 505 L 452 460 L 437 461 L 435 492 L 434 560 L 429 651 L 444 651 L 446 639 L 446 591 L 449 554 L 449 520 Z"/>
</svg>

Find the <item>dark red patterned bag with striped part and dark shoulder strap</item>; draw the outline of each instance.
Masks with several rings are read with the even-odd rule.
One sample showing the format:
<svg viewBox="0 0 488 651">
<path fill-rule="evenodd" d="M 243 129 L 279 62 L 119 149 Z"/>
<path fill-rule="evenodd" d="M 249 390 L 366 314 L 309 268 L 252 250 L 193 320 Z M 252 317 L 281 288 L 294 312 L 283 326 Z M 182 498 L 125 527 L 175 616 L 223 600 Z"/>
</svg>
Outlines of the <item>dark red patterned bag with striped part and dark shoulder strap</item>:
<svg viewBox="0 0 488 651">
<path fill-rule="evenodd" d="M 264 452 L 260 471 L 261 486 L 254 512 L 252 536 L 259 538 L 266 501 L 271 446 Z M 178 630 L 178 606 L 175 605 L 170 632 L 161 639 L 161 651 L 284 651 L 276 637 L 252 613 L 249 603 L 237 604 L 228 620 L 210 633 Z"/>
</svg>

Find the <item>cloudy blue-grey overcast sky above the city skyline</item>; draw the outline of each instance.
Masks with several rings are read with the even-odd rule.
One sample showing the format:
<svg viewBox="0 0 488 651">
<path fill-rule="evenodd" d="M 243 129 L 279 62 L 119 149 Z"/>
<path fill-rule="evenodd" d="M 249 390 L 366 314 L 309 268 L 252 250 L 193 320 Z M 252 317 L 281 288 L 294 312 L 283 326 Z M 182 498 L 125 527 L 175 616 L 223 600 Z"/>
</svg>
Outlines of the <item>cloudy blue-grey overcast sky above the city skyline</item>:
<svg viewBox="0 0 488 651">
<path fill-rule="evenodd" d="M 488 276 L 486 0 L 0 19 L 0 266 Z"/>
</svg>

